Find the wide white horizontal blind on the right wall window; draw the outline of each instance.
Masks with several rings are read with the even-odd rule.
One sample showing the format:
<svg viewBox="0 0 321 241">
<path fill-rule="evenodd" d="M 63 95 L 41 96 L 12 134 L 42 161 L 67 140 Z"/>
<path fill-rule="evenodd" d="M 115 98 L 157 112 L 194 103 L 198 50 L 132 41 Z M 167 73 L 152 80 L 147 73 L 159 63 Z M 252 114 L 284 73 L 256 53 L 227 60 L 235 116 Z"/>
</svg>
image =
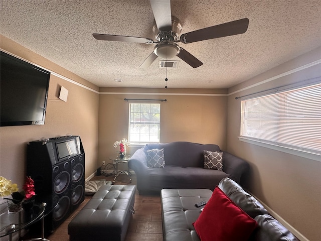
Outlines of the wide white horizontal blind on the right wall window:
<svg viewBox="0 0 321 241">
<path fill-rule="evenodd" d="M 321 154 L 321 84 L 243 100 L 241 137 Z"/>
</svg>

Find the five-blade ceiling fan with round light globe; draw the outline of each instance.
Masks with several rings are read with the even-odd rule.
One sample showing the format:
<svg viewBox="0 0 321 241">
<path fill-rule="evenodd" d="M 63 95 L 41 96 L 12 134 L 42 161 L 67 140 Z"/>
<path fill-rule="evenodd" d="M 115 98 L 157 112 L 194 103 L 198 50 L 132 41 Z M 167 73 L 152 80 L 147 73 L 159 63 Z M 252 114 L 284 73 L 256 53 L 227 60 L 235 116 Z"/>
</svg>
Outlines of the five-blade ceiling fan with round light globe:
<svg viewBox="0 0 321 241">
<path fill-rule="evenodd" d="M 247 18 L 215 25 L 212 27 L 199 29 L 179 37 L 182 26 L 179 20 L 171 14 L 170 0 L 150 0 L 150 5 L 155 18 L 153 31 L 156 41 L 148 38 L 108 35 L 108 34 L 93 34 L 97 40 L 134 42 L 143 44 L 156 44 L 154 51 L 145 59 L 139 66 L 140 68 L 149 67 L 157 57 L 171 59 L 178 56 L 180 59 L 191 65 L 193 68 L 201 66 L 203 63 L 190 54 L 188 51 L 180 47 L 177 43 L 184 44 L 216 39 L 231 35 L 243 34 L 246 32 L 249 20 Z"/>
</svg>

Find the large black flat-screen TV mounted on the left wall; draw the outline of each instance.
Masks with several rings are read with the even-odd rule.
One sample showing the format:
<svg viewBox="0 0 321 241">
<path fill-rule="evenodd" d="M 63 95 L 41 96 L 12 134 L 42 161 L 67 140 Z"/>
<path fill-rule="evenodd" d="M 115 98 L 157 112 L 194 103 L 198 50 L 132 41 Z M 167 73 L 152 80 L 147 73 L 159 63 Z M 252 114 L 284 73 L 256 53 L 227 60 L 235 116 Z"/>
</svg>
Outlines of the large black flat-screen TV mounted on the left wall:
<svg viewBox="0 0 321 241">
<path fill-rule="evenodd" d="M 1 51 L 1 126 L 44 125 L 50 72 Z"/>
</svg>

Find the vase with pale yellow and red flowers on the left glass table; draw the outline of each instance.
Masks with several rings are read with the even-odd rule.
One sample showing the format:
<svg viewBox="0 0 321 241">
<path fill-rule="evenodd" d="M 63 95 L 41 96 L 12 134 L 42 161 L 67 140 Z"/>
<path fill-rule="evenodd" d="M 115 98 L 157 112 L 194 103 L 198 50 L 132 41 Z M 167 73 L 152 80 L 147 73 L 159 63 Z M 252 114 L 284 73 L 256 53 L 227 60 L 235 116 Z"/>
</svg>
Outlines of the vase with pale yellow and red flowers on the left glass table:
<svg viewBox="0 0 321 241">
<path fill-rule="evenodd" d="M 22 192 L 18 192 L 19 188 L 16 183 L 12 183 L 4 177 L 0 177 L 0 195 L 1 197 L 11 195 L 12 198 L 4 198 L 10 200 L 12 203 L 9 205 L 9 212 L 18 212 L 22 208 L 30 210 L 35 203 L 35 185 L 34 180 L 31 177 L 27 177 L 23 186 Z"/>
</svg>

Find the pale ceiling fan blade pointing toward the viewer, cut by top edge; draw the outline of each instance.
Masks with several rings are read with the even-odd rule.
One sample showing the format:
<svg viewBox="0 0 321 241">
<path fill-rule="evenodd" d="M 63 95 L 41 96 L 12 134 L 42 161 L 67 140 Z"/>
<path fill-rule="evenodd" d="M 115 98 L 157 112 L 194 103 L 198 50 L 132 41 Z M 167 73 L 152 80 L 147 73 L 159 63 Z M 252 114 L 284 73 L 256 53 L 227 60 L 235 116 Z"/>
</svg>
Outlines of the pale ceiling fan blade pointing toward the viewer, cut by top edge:
<svg viewBox="0 0 321 241">
<path fill-rule="evenodd" d="M 150 0 L 152 13 L 159 30 L 169 32 L 172 30 L 172 13 L 170 0 Z"/>
</svg>

